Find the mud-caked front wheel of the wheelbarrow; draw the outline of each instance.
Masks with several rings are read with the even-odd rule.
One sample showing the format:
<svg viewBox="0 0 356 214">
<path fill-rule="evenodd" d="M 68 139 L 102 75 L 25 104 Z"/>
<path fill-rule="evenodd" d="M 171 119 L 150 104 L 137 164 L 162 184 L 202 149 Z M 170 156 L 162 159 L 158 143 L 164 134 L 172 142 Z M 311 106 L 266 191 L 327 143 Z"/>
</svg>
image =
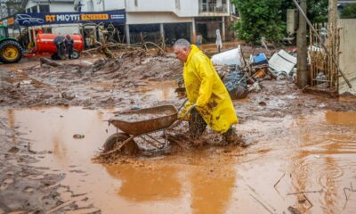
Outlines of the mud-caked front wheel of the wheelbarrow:
<svg viewBox="0 0 356 214">
<path fill-rule="evenodd" d="M 121 146 L 121 144 L 123 144 L 123 142 L 128 138 L 130 138 L 130 136 L 125 133 L 115 133 L 109 136 L 104 144 L 104 152 L 110 152 L 111 150 L 116 149 L 118 146 Z M 127 142 L 124 146 L 121 147 L 120 150 L 120 152 L 129 155 L 133 155 L 138 151 L 139 147 L 134 142 L 134 140 Z"/>
</svg>

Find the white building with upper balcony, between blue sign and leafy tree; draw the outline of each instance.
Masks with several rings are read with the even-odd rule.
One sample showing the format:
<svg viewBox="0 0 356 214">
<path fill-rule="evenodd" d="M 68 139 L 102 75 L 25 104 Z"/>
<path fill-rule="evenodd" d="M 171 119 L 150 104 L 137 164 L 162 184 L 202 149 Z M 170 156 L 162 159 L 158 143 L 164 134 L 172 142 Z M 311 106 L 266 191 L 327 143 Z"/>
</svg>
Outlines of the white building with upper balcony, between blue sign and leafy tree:
<svg viewBox="0 0 356 214">
<path fill-rule="evenodd" d="M 107 2 L 117 2 L 111 0 Z M 230 0 L 125 0 L 126 40 L 142 31 L 160 32 L 167 43 L 184 37 L 196 42 L 213 41 L 215 30 L 220 29 L 223 40 L 231 15 Z M 130 36 L 131 35 L 131 36 Z"/>
</svg>

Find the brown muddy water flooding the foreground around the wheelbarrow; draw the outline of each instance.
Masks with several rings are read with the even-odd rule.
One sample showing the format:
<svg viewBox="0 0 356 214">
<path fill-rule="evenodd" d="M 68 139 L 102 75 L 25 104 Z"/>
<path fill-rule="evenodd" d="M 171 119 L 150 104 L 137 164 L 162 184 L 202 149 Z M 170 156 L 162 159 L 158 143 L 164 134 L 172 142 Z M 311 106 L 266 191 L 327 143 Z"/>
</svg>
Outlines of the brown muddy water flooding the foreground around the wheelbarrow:
<svg viewBox="0 0 356 214">
<path fill-rule="evenodd" d="M 103 121 L 110 111 L 36 108 L 1 114 L 32 140 L 31 149 L 39 152 L 36 166 L 60 172 L 63 185 L 86 193 L 87 203 L 103 213 L 356 210 L 356 112 L 247 120 L 237 128 L 251 144 L 247 148 L 199 149 L 120 165 L 91 160 L 115 132 Z M 74 139 L 75 134 L 85 137 Z M 16 143 L 18 136 L 12 137 Z"/>
</svg>

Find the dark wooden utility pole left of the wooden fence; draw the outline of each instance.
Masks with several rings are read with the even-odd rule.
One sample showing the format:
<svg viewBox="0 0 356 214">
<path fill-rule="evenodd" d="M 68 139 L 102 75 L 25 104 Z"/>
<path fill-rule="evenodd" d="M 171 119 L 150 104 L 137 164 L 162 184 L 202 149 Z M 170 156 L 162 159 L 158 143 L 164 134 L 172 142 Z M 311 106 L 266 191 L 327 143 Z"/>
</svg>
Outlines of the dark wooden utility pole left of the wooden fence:
<svg viewBox="0 0 356 214">
<path fill-rule="evenodd" d="M 306 13 L 306 0 L 300 0 L 299 5 Z M 306 21 L 303 14 L 299 12 L 299 27 L 296 37 L 297 63 L 296 63 L 296 86 L 302 89 L 308 85 L 308 68 L 307 68 L 307 48 L 306 48 Z"/>
</svg>

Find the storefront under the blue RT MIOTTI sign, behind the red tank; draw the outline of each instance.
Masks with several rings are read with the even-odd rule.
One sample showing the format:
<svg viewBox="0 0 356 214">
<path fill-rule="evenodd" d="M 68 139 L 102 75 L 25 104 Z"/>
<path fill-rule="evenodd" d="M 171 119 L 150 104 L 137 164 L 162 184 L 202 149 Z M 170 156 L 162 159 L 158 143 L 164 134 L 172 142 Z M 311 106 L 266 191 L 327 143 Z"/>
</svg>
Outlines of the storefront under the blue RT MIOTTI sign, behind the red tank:
<svg viewBox="0 0 356 214">
<path fill-rule="evenodd" d="M 112 39 L 119 42 L 124 36 L 125 29 L 125 10 L 115 10 L 107 12 L 38 12 L 38 13 L 17 13 L 8 17 L 2 22 L 10 27 L 12 37 L 28 35 L 25 42 L 31 43 L 36 37 L 35 30 L 41 28 L 45 33 L 59 35 L 82 34 L 85 38 L 85 45 L 89 37 L 96 37 L 102 40 L 102 35 L 95 26 L 101 25 L 116 34 Z M 90 33 L 89 33 L 90 32 Z M 93 35 L 94 34 L 94 35 Z M 27 41 L 28 40 L 28 41 Z M 23 44 L 27 46 L 27 44 Z"/>
</svg>

